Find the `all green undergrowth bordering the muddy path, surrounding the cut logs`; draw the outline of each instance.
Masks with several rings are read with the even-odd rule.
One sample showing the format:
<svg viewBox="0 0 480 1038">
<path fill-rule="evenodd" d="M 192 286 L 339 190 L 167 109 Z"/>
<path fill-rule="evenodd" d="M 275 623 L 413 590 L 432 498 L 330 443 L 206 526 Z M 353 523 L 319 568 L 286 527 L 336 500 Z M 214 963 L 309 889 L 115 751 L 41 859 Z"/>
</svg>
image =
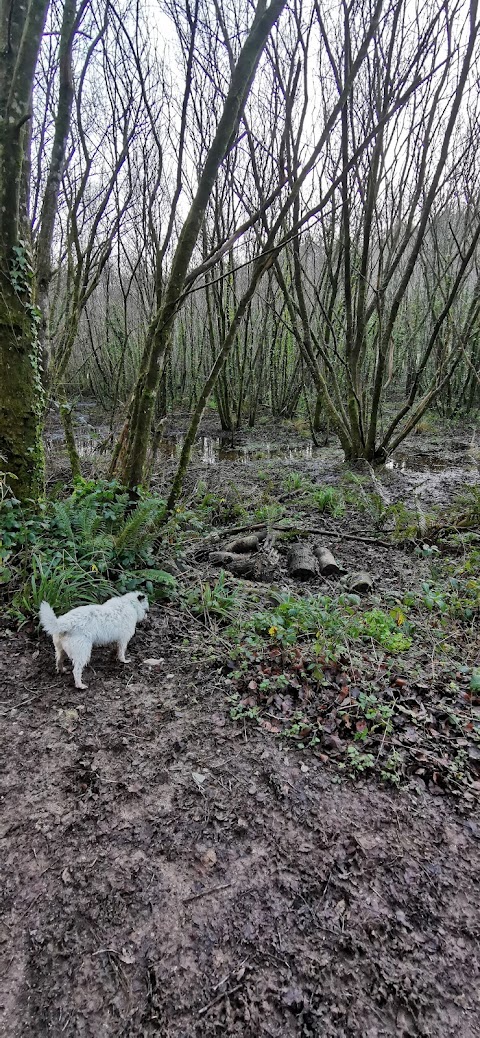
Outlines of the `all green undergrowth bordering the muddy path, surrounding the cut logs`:
<svg viewBox="0 0 480 1038">
<path fill-rule="evenodd" d="M 477 752 L 480 743 L 478 490 L 447 515 L 425 516 L 385 504 L 371 481 L 356 475 L 332 488 L 291 472 L 278 499 L 267 474 L 249 502 L 233 484 L 211 491 L 198 481 L 167 521 L 160 495 L 132 506 L 115 482 L 79 481 L 36 512 L 3 488 L 6 614 L 22 623 L 36 617 L 44 598 L 61 613 L 137 588 L 153 600 L 176 597 L 205 625 L 199 653 L 207 657 L 209 638 L 215 647 L 233 720 L 308 748 L 351 776 L 375 772 L 397 787 L 414 773 L 471 795 L 478 758 L 465 746 Z M 414 590 L 396 597 L 380 588 L 361 598 L 339 583 L 339 594 L 331 584 L 328 594 L 304 594 L 223 571 L 208 579 L 198 572 L 179 586 L 162 567 L 165 556 L 195 558 L 196 546 L 209 536 L 210 544 L 219 540 L 222 526 L 288 523 L 304 507 L 328 525 L 347 512 L 368 515 L 372 534 L 386 532 L 397 550 L 403 542 L 414 566 L 421 563 Z"/>
</svg>

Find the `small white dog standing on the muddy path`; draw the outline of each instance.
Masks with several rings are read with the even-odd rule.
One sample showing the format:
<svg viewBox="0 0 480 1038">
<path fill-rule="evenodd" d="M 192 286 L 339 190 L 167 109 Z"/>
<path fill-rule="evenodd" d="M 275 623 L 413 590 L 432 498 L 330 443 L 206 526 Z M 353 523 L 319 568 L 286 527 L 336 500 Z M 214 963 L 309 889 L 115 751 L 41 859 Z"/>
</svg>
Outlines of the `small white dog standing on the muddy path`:
<svg viewBox="0 0 480 1038">
<path fill-rule="evenodd" d="M 74 664 L 76 688 L 86 688 L 82 671 L 94 646 L 115 644 L 121 663 L 129 663 L 125 651 L 138 621 L 143 620 L 148 611 L 149 599 L 139 591 L 109 598 L 103 605 L 79 605 L 62 617 L 56 617 L 51 605 L 42 602 L 41 624 L 53 638 L 57 673 L 63 671 L 68 656 Z"/>
</svg>

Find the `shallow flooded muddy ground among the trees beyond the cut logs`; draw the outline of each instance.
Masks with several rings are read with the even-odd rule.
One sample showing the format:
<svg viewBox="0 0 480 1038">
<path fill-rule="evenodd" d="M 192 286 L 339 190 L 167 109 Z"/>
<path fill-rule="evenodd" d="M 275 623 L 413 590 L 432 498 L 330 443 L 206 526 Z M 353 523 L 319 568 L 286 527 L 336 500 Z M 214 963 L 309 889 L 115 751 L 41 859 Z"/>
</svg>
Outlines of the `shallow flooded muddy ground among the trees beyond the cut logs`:
<svg viewBox="0 0 480 1038">
<path fill-rule="evenodd" d="M 156 474 L 165 485 L 171 479 L 180 459 L 184 431 L 188 416 L 177 416 L 165 424 L 160 440 Z M 106 467 L 112 435 L 105 424 L 99 422 L 94 405 L 83 404 L 77 415 L 77 448 L 86 466 L 102 472 Z M 64 437 L 58 416 L 52 412 L 46 437 L 50 474 L 61 467 L 69 470 L 64 452 Z M 242 484 L 255 479 L 257 469 L 266 470 L 277 465 L 279 470 L 298 469 L 318 483 L 330 482 L 341 476 L 346 466 L 343 452 L 336 437 L 328 444 L 315 446 L 306 430 L 301 434 L 289 422 L 266 421 L 255 430 L 243 429 L 234 433 L 219 433 L 216 418 L 204 419 L 192 450 L 190 471 L 204 468 L 219 469 L 235 482 L 239 466 L 245 468 L 240 475 Z M 442 425 L 430 433 L 411 435 L 388 459 L 385 466 L 375 469 L 377 479 L 391 488 L 394 495 L 412 490 L 432 503 L 442 502 L 462 485 L 472 486 L 480 480 L 480 428 L 478 422 L 461 427 Z M 393 479 L 398 475 L 400 479 Z M 390 479 L 389 479 L 390 476 Z M 215 484 L 218 472 L 206 476 Z"/>
</svg>

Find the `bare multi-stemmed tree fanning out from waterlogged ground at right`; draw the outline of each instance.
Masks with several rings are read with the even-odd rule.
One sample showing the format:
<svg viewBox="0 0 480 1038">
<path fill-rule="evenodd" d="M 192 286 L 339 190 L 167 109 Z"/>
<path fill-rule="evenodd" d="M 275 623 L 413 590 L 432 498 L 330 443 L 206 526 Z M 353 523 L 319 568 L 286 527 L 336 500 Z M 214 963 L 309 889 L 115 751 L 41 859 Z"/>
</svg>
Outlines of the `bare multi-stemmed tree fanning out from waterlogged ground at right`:
<svg viewBox="0 0 480 1038">
<path fill-rule="evenodd" d="M 384 460 L 459 360 L 458 355 L 444 354 L 427 391 L 417 401 L 422 376 L 475 253 L 477 224 L 471 226 L 461 248 L 452 238 L 453 251 L 443 257 L 442 276 L 447 271 L 453 275 L 448 298 L 418 358 L 407 399 L 381 429 L 402 301 L 445 206 L 448 185 L 455 181 L 459 155 L 468 147 L 455 141 L 455 129 L 476 53 L 476 2 L 470 4 L 466 25 L 463 13 L 463 4 L 442 10 L 427 6 L 422 22 L 416 12 L 411 49 L 405 43 L 411 35 L 411 12 L 408 5 L 394 5 L 350 91 L 341 133 L 332 141 L 334 175 L 341 169 L 343 174 L 332 192 L 320 284 L 309 277 L 308 251 L 302 254 L 299 239 L 295 241 L 295 289 L 305 359 L 350 459 Z M 323 36 L 328 48 L 326 29 Z M 332 46 L 328 49 L 339 90 L 348 75 L 350 49 L 346 25 L 337 52 Z M 408 81 L 418 84 L 409 103 L 385 119 L 389 111 L 395 113 Z M 371 146 L 352 161 L 358 140 L 375 124 L 378 131 Z"/>
</svg>

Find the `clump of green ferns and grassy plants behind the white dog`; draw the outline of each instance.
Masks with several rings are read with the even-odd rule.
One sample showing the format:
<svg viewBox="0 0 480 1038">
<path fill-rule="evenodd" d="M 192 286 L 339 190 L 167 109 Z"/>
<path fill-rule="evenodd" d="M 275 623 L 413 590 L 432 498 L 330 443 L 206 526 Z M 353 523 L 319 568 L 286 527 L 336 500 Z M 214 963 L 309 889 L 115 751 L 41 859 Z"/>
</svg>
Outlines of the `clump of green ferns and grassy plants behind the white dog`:
<svg viewBox="0 0 480 1038">
<path fill-rule="evenodd" d="M 176 581 L 156 548 L 165 503 L 140 499 L 132 509 L 113 481 L 75 484 L 63 500 L 32 512 L 11 495 L 0 501 L 0 594 L 18 621 L 36 616 L 43 599 L 55 611 L 141 589 L 151 599 Z"/>
</svg>

